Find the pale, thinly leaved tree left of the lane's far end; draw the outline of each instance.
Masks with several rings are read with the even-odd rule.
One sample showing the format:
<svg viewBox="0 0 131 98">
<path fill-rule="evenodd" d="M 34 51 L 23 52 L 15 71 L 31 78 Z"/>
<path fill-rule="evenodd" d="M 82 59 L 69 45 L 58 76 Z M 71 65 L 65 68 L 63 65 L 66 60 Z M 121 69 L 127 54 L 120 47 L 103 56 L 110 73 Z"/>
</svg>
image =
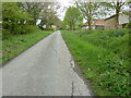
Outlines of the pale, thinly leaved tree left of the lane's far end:
<svg viewBox="0 0 131 98">
<path fill-rule="evenodd" d="M 39 19 L 41 20 L 39 26 L 46 25 L 46 28 L 48 29 L 59 21 L 57 11 L 60 8 L 60 4 L 58 2 L 44 3 L 46 7 L 39 14 Z"/>
</svg>

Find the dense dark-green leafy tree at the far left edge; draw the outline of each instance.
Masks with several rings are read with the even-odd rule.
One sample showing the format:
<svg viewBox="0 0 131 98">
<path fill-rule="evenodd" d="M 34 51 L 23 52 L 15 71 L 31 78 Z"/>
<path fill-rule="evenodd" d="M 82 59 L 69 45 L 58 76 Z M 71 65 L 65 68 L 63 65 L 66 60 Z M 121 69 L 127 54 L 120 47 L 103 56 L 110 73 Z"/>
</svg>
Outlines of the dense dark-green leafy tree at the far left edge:
<svg viewBox="0 0 131 98">
<path fill-rule="evenodd" d="M 28 13 L 19 8 L 17 2 L 3 2 L 2 3 L 2 25 L 3 35 L 5 33 L 22 34 L 25 23 L 31 21 Z"/>
</svg>

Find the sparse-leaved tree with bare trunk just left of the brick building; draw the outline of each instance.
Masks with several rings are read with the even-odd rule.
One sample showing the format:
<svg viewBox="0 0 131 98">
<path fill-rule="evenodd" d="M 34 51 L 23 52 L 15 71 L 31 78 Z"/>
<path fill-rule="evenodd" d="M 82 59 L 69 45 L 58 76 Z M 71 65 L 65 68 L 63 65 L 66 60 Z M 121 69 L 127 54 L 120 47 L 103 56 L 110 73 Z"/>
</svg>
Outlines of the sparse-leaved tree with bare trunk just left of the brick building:
<svg viewBox="0 0 131 98">
<path fill-rule="evenodd" d="M 98 13 L 100 3 L 82 0 L 80 2 L 75 1 L 75 5 L 82 12 L 84 19 L 87 21 L 88 29 L 92 29 L 93 20 L 97 17 L 98 14 L 100 14 Z"/>
</svg>

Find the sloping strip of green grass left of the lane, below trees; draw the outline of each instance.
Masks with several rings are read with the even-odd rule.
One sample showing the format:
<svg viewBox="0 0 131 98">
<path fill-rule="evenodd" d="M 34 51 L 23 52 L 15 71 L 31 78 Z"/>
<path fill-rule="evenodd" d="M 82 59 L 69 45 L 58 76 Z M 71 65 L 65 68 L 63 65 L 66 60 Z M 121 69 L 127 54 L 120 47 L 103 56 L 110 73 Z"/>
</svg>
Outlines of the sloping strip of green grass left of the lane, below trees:
<svg viewBox="0 0 131 98">
<path fill-rule="evenodd" d="M 2 60 L 0 63 L 5 63 L 51 33 L 37 30 L 26 35 L 8 36 L 2 40 Z"/>
</svg>

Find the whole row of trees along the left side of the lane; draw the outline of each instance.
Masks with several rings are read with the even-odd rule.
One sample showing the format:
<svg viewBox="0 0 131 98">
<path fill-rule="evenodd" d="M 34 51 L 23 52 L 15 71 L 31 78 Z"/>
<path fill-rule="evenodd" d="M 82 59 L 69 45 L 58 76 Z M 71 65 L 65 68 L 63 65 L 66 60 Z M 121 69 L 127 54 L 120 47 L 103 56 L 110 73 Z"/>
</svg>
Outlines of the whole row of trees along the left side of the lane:
<svg viewBox="0 0 131 98">
<path fill-rule="evenodd" d="M 40 28 L 46 25 L 58 25 L 57 10 L 60 4 L 57 2 L 2 2 L 2 35 L 27 34 L 35 30 L 38 20 Z"/>
</svg>

